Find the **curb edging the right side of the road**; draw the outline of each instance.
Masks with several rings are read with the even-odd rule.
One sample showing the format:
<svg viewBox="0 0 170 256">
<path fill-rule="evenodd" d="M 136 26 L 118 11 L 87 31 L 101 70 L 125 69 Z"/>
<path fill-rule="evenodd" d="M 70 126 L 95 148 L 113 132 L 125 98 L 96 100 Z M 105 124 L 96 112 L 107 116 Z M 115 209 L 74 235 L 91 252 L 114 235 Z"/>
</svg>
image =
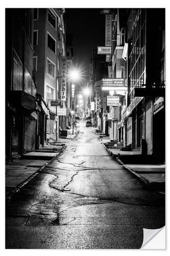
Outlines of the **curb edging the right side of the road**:
<svg viewBox="0 0 170 256">
<path fill-rule="evenodd" d="M 118 157 L 115 157 L 113 155 L 113 153 L 103 144 L 103 142 L 101 142 L 101 144 L 104 146 L 104 148 L 106 149 L 106 151 L 109 153 L 109 155 L 119 164 L 123 165 L 124 169 L 128 170 L 128 172 L 130 174 L 132 174 L 134 177 L 136 177 L 140 182 L 142 182 L 144 185 L 152 188 L 152 189 L 165 189 L 165 182 L 152 182 L 149 181 L 147 179 L 145 179 L 144 177 L 142 177 L 141 175 L 139 175 L 138 173 L 134 172 L 134 170 L 132 170 L 130 167 L 126 166 Z"/>
</svg>

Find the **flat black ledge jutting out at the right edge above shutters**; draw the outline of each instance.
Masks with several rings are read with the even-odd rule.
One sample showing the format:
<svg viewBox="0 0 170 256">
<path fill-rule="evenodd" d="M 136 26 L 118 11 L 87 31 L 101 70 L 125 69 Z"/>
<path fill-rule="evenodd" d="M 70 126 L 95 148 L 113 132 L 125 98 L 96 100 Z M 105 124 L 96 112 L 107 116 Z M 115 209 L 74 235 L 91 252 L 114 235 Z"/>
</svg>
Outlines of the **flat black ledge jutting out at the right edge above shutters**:
<svg viewBox="0 0 170 256">
<path fill-rule="evenodd" d="M 134 97 L 164 97 L 165 84 L 141 84 L 134 88 Z"/>
</svg>

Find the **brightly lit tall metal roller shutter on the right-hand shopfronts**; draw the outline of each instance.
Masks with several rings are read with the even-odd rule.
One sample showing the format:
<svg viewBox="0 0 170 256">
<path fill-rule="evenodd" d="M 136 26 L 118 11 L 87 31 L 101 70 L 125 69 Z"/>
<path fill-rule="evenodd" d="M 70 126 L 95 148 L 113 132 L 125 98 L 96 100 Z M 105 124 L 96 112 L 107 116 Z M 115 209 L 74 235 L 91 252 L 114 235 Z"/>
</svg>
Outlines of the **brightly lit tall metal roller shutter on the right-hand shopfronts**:
<svg viewBox="0 0 170 256">
<path fill-rule="evenodd" d="M 152 121 L 151 121 L 151 100 L 148 101 L 145 105 L 145 141 L 147 142 L 148 151 L 147 154 L 152 154 L 152 143 L 151 143 L 151 130 L 152 130 Z"/>
</svg>

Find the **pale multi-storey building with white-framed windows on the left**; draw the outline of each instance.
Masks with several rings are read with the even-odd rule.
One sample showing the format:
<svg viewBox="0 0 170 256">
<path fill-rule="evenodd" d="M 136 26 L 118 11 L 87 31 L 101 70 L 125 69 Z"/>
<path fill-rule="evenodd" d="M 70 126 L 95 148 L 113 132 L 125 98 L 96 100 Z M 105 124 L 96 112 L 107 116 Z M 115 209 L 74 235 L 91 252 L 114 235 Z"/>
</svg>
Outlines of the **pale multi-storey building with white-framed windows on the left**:
<svg viewBox="0 0 170 256">
<path fill-rule="evenodd" d="M 39 138 L 54 141 L 58 138 L 57 106 L 51 100 L 61 99 L 61 58 L 65 56 L 64 9 L 34 9 L 34 70 L 40 104 Z M 40 99 L 41 98 L 41 99 Z M 49 111 L 50 112 L 49 112 Z"/>
</svg>

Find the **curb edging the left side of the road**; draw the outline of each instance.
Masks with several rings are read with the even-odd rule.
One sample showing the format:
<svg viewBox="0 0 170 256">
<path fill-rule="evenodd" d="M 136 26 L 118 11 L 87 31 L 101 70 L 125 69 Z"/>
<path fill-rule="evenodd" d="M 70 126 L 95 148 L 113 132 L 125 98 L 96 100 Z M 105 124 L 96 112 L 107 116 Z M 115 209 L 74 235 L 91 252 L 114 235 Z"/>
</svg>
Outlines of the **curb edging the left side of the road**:
<svg viewBox="0 0 170 256">
<path fill-rule="evenodd" d="M 61 153 L 63 153 L 63 151 L 66 148 L 66 144 L 65 146 L 62 148 L 62 150 L 60 151 L 59 154 L 56 154 L 56 156 L 54 156 L 50 161 L 46 162 L 43 166 L 41 166 L 35 173 L 33 173 L 29 178 L 27 178 L 26 180 L 22 181 L 19 185 L 17 185 L 11 192 L 9 192 L 6 195 L 6 200 L 8 202 L 11 202 L 13 197 L 16 195 L 16 193 L 20 192 L 20 189 L 25 186 L 29 181 L 31 181 L 35 176 L 37 176 L 38 174 L 40 174 L 42 172 L 42 170 L 45 168 L 45 166 L 48 163 L 51 163 L 54 159 L 56 159 Z"/>
</svg>

